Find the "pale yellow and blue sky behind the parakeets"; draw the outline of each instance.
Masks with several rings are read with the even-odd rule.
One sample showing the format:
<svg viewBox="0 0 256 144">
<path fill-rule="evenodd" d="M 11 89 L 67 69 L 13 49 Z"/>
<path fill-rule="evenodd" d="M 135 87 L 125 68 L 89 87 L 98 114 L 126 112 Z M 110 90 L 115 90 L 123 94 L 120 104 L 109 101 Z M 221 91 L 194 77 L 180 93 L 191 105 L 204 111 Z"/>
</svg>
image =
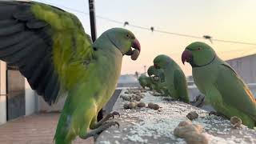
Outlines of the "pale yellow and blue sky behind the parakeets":
<svg viewBox="0 0 256 144">
<path fill-rule="evenodd" d="M 78 16 L 86 33 L 90 34 L 89 6 L 87 0 L 37 0 L 58 6 Z M 190 75 L 188 63 L 182 65 L 182 51 L 191 42 L 206 42 L 214 48 L 223 60 L 256 53 L 256 46 L 226 42 L 210 43 L 202 38 L 186 38 L 171 34 L 151 32 L 164 30 L 179 34 L 202 37 L 210 35 L 216 39 L 256 43 L 256 1 L 255 0 L 94 0 L 96 15 L 130 25 L 148 27 L 142 30 L 126 26 L 141 43 L 142 52 L 137 61 L 124 57 L 122 74 L 144 72 L 144 66 L 153 64 L 158 54 L 166 54 Z M 84 13 L 80 13 L 81 11 Z M 97 34 L 123 24 L 96 19 Z"/>
</svg>

